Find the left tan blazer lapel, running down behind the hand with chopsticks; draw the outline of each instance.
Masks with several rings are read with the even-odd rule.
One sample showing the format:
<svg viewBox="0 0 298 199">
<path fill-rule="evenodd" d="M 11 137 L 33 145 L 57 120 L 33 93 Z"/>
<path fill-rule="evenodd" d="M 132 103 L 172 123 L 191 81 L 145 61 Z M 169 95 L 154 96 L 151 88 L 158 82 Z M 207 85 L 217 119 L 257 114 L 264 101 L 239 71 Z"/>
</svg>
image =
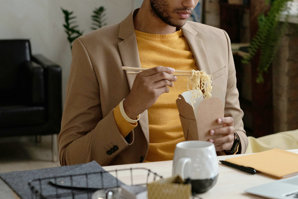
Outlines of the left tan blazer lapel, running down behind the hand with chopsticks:
<svg viewBox="0 0 298 199">
<path fill-rule="evenodd" d="M 120 52 L 123 66 L 125 67 L 141 68 L 138 45 L 136 42 L 136 34 L 134 31 L 134 22 L 133 22 L 133 16 L 137 12 L 137 10 L 138 9 L 131 12 L 131 14 L 120 23 L 120 27 L 119 27 L 118 38 L 123 39 L 123 41 L 120 41 L 118 43 L 118 47 L 119 47 L 119 52 Z M 134 79 L 136 78 L 136 75 L 127 74 L 128 71 L 133 71 L 133 70 L 125 70 L 128 84 L 131 89 L 134 83 Z M 141 72 L 141 71 L 134 70 L 133 72 Z M 149 122 L 148 122 L 147 110 L 145 110 L 140 115 L 139 124 L 141 126 L 141 129 L 149 145 Z"/>
</svg>

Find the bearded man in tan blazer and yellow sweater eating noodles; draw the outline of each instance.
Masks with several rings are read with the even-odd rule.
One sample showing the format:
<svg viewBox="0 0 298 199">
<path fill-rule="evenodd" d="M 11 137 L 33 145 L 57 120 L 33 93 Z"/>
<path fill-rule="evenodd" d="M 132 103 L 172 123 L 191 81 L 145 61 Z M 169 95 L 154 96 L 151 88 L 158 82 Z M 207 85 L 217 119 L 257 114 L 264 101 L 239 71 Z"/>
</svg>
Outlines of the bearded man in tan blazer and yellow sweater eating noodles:
<svg viewBox="0 0 298 199">
<path fill-rule="evenodd" d="M 175 70 L 205 70 L 225 94 L 220 154 L 244 153 L 247 137 L 225 31 L 186 21 L 198 0 L 144 0 L 121 23 L 76 39 L 59 134 L 60 164 L 100 165 L 173 159 L 184 141 L 175 100 L 187 91 Z M 125 67 L 148 68 L 138 75 Z M 139 121 L 138 121 L 139 119 Z M 235 135 L 240 145 L 231 152 Z"/>
</svg>

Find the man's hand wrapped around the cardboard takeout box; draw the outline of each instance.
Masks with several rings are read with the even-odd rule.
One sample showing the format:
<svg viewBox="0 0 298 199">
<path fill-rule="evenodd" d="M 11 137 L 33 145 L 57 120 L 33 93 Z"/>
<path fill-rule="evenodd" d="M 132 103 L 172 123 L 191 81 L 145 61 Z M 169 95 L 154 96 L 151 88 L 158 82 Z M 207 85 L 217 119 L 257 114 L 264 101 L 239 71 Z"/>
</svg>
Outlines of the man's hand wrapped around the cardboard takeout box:
<svg viewBox="0 0 298 199">
<path fill-rule="evenodd" d="M 221 138 L 209 139 L 215 145 L 216 151 L 230 150 L 234 143 L 234 119 L 231 117 L 219 118 L 218 124 L 223 124 L 222 128 L 211 129 L 210 135 L 222 134 Z"/>
</svg>

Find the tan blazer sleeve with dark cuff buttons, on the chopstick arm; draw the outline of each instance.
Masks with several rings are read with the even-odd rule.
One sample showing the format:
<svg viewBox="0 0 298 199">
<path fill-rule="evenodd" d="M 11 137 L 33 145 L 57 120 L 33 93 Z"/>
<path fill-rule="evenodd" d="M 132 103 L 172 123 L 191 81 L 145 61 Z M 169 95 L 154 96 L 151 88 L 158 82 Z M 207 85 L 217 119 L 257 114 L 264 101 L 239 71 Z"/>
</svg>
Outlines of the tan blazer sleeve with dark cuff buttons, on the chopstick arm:
<svg viewBox="0 0 298 199">
<path fill-rule="evenodd" d="M 130 143 L 120 134 L 113 110 L 103 118 L 99 83 L 89 55 L 77 38 L 72 46 L 72 63 L 58 136 L 61 166 L 93 160 L 105 166 L 132 144 L 134 133 L 131 132 L 129 137 Z"/>
</svg>

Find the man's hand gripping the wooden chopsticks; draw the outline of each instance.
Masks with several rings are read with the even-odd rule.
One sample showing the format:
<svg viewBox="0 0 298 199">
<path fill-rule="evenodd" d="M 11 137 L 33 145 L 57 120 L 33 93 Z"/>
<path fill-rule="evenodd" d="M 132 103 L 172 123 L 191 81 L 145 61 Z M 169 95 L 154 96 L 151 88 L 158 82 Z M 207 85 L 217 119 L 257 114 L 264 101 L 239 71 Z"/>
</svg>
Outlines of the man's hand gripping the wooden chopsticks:
<svg viewBox="0 0 298 199">
<path fill-rule="evenodd" d="M 154 67 L 136 75 L 131 92 L 123 101 L 126 115 L 135 119 L 139 114 L 150 108 L 164 93 L 169 92 L 167 87 L 173 87 L 177 77 L 171 75 L 175 70 L 170 67 Z"/>
</svg>

